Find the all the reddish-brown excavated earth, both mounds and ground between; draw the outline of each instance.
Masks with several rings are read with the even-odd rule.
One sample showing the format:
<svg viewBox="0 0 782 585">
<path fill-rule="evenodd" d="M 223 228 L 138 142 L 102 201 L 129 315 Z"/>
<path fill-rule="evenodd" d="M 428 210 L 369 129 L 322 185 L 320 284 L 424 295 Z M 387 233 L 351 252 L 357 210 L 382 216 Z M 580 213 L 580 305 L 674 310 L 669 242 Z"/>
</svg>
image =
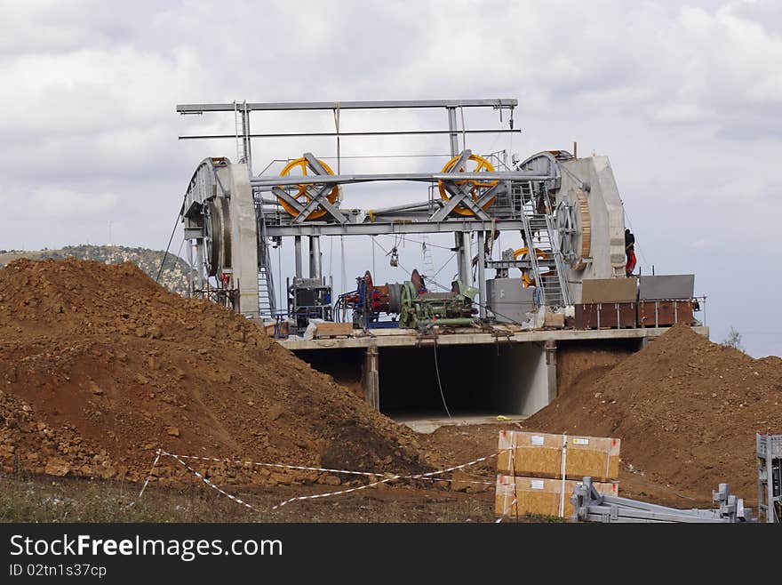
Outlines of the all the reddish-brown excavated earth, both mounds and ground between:
<svg viewBox="0 0 782 585">
<path fill-rule="evenodd" d="M 563 351 L 560 361 L 560 396 L 523 429 L 621 438 L 620 480 L 636 495 L 661 485 L 702 501 L 728 482 L 754 499 L 754 432 L 782 433 L 782 359 L 753 359 L 676 326 L 635 354 L 583 346 Z M 251 321 L 166 292 L 131 263 L 16 260 L 0 269 L 6 471 L 143 481 L 164 449 L 414 473 L 491 453 L 499 428 L 417 436 Z M 346 481 L 328 472 L 183 461 L 218 485 Z M 491 481 L 493 465 L 473 471 Z M 153 481 L 194 477 L 164 456 Z"/>
</svg>

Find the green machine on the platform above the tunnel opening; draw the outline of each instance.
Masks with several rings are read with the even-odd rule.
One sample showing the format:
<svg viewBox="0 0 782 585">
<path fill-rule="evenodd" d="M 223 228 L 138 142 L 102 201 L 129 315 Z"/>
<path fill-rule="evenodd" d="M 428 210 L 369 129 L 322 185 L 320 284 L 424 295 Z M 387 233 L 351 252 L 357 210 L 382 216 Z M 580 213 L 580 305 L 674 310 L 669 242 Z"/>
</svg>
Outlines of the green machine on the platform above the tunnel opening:
<svg viewBox="0 0 782 585">
<path fill-rule="evenodd" d="M 451 292 L 419 292 L 410 280 L 402 285 L 399 326 L 426 329 L 435 325 L 469 327 L 475 325 L 474 300 L 478 289 L 461 281 L 451 283 Z"/>
</svg>

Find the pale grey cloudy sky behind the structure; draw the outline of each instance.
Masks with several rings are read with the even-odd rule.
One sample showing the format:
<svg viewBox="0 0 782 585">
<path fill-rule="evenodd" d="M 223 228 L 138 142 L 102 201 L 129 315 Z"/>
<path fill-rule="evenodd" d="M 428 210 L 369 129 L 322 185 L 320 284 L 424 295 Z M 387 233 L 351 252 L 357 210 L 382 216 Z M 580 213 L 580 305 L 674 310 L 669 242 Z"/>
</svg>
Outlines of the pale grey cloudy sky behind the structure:
<svg viewBox="0 0 782 585">
<path fill-rule="evenodd" d="M 522 134 L 467 146 L 524 158 L 578 140 L 579 154 L 610 156 L 644 272 L 695 272 L 714 341 L 732 325 L 753 355 L 782 355 L 782 3 L 0 0 L 0 14 L 0 249 L 109 237 L 164 248 L 196 164 L 235 158 L 232 140 L 178 140 L 233 132 L 231 116 L 177 116 L 177 103 L 517 98 Z M 494 112 L 466 122 L 499 127 Z M 341 119 L 343 130 L 443 124 L 441 112 Z M 256 132 L 313 128 L 331 130 L 331 113 L 253 117 Z M 335 153 L 333 140 L 257 140 L 255 170 L 306 150 Z M 342 143 L 343 156 L 446 152 L 439 137 Z M 425 196 L 346 189 L 363 207 Z M 323 252 L 339 288 L 334 248 Z M 350 280 L 371 245 L 346 248 Z M 382 254 L 376 279 L 402 279 Z M 288 259 L 284 248 L 283 275 Z M 447 259 L 436 249 L 438 267 Z M 401 260 L 419 263 L 420 246 L 406 242 Z"/>
</svg>

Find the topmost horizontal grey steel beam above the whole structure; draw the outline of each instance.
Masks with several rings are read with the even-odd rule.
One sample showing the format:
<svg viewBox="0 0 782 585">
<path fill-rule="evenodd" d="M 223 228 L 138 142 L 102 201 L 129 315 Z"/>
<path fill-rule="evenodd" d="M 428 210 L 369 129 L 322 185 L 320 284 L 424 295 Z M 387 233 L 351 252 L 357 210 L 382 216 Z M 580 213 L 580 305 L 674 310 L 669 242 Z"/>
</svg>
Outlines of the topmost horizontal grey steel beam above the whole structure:
<svg viewBox="0 0 782 585">
<path fill-rule="evenodd" d="M 314 109 L 396 109 L 396 108 L 515 108 L 519 100 L 379 100 L 379 101 L 292 101 L 243 104 L 248 111 L 294 111 Z M 233 103 L 177 104 L 180 114 L 233 112 Z M 455 153 L 454 153 L 455 154 Z"/>
</svg>

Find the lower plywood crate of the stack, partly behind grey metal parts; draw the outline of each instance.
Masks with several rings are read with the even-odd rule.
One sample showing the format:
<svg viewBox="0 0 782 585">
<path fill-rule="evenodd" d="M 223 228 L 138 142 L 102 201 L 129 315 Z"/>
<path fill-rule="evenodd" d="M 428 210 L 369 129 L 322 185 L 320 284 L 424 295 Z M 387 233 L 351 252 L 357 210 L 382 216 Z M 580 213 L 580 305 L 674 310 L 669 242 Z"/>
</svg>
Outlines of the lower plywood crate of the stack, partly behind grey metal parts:
<svg viewBox="0 0 782 585">
<path fill-rule="evenodd" d="M 573 515 L 571 495 L 580 481 L 546 477 L 497 476 L 494 512 L 499 517 Z M 618 496 L 618 482 L 594 483 L 598 493 Z"/>
</svg>

